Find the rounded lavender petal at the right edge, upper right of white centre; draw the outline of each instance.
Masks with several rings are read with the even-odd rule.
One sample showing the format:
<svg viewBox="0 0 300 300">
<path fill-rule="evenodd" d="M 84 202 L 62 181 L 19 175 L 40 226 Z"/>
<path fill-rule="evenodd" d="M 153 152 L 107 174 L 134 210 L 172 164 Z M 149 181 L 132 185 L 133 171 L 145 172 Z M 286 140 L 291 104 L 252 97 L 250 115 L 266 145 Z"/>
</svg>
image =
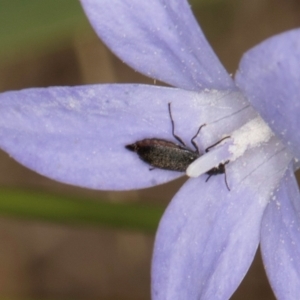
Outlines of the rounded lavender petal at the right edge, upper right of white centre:
<svg viewBox="0 0 300 300">
<path fill-rule="evenodd" d="M 244 54 L 237 85 L 276 135 L 300 158 L 300 29 Z"/>
</svg>

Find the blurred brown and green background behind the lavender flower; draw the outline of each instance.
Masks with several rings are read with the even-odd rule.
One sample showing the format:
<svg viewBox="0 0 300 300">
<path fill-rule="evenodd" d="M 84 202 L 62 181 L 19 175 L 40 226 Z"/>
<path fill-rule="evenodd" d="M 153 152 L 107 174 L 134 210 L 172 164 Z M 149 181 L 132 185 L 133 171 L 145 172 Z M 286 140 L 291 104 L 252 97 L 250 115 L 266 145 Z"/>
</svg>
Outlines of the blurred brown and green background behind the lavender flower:
<svg viewBox="0 0 300 300">
<path fill-rule="evenodd" d="M 230 73 L 247 49 L 300 25 L 298 0 L 190 4 Z M 1 91 L 153 84 L 101 43 L 77 0 L 0 0 L 0 44 Z M 100 192 L 53 182 L 4 152 L 0 166 L 0 299 L 150 299 L 155 229 L 185 178 Z M 259 255 L 232 299 L 275 299 Z"/>
</svg>

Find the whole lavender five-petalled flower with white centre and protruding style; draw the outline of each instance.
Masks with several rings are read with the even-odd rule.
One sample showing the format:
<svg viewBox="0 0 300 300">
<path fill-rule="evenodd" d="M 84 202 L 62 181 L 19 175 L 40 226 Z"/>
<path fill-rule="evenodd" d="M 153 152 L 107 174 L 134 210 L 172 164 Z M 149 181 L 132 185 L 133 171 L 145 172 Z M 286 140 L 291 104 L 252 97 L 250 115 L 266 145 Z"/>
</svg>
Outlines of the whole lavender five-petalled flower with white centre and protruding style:
<svg viewBox="0 0 300 300">
<path fill-rule="evenodd" d="M 143 138 L 172 139 L 171 102 L 176 134 L 186 143 L 207 124 L 197 138 L 203 153 L 231 136 L 187 170 L 198 176 L 230 159 L 231 191 L 222 176 L 209 183 L 200 176 L 189 179 L 172 199 L 156 236 L 152 298 L 228 299 L 261 243 L 275 295 L 296 299 L 300 202 L 293 174 L 299 164 L 293 157 L 300 157 L 295 117 L 300 30 L 245 53 L 234 82 L 185 0 L 81 2 L 114 53 L 176 88 L 107 84 L 3 93 L 1 148 L 66 183 L 110 190 L 154 186 L 182 174 L 149 171 L 125 145 Z"/>
</svg>

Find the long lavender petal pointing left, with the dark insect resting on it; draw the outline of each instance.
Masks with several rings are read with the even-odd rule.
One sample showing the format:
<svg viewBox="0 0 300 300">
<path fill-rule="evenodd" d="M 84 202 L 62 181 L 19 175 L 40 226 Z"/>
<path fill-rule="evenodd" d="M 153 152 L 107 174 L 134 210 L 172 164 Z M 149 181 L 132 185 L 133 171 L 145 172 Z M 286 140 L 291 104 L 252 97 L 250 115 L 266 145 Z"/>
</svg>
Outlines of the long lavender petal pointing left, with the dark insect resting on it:
<svg viewBox="0 0 300 300">
<path fill-rule="evenodd" d="M 226 116 L 242 110 L 244 118 L 243 111 L 247 111 L 239 97 L 228 91 L 195 93 L 145 85 L 2 93 L 0 147 L 25 166 L 62 182 L 117 190 L 153 186 L 183 174 L 149 171 L 149 165 L 125 145 L 144 138 L 177 143 L 172 136 L 169 102 L 177 134 L 187 143 L 206 121 L 201 120 L 205 116 L 214 122 L 207 131 L 217 130 L 218 119 L 224 120 L 220 126 L 226 128 Z M 203 132 L 204 138 L 211 138 Z"/>
</svg>

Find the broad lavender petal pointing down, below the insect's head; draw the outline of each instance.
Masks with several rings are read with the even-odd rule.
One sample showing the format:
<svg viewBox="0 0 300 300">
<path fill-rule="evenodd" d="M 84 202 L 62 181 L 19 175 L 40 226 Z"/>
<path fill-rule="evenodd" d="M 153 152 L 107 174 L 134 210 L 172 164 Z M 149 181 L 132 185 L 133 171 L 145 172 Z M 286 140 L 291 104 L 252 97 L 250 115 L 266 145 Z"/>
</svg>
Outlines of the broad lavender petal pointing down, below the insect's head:
<svg viewBox="0 0 300 300">
<path fill-rule="evenodd" d="M 229 163 L 223 176 L 190 179 L 159 225 L 152 263 L 152 297 L 229 299 L 256 252 L 264 209 L 290 155 L 278 140 Z"/>
</svg>

